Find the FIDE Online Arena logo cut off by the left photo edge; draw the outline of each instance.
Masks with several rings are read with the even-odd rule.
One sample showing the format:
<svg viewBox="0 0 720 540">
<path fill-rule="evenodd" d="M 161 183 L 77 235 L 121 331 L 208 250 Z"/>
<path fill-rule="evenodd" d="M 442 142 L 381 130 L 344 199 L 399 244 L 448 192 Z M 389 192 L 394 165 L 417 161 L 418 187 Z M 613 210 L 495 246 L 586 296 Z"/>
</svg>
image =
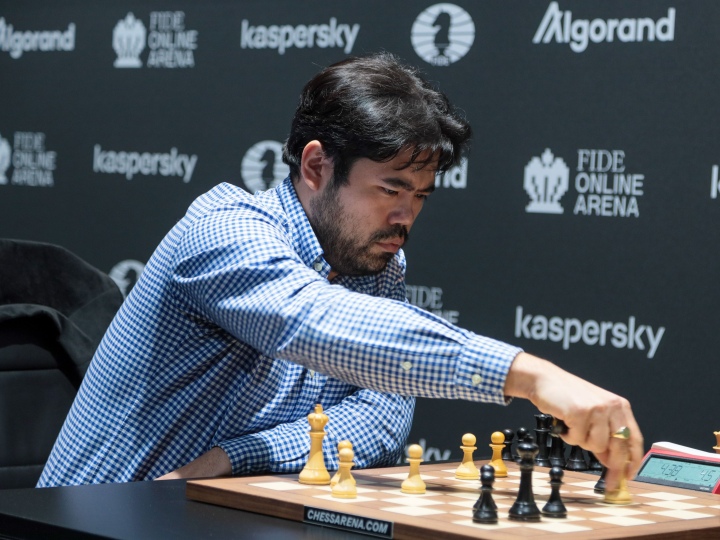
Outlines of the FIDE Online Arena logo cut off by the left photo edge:
<svg viewBox="0 0 720 540">
<path fill-rule="evenodd" d="M 10 165 L 12 175 L 8 173 Z M 12 148 L 0 136 L 0 185 L 53 187 L 56 165 L 57 152 L 45 147 L 44 133 L 16 131 Z"/>
</svg>

